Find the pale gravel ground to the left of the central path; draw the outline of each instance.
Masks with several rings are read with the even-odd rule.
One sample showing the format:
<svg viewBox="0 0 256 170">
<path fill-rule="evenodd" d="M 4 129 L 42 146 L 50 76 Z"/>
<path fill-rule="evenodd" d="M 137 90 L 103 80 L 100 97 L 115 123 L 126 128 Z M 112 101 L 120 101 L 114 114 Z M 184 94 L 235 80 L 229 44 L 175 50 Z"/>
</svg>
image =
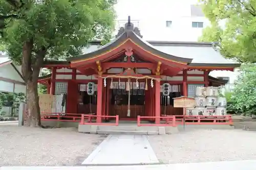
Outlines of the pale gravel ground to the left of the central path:
<svg viewBox="0 0 256 170">
<path fill-rule="evenodd" d="M 0 126 L 0 166 L 80 165 L 105 136 L 75 128 Z"/>
</svg>

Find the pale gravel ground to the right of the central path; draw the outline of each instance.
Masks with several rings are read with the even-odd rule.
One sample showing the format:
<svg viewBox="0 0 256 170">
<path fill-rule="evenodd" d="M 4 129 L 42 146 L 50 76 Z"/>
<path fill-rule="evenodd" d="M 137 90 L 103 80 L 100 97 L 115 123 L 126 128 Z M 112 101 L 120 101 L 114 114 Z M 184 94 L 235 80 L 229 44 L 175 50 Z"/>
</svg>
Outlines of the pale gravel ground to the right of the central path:
<svg viewBox="0 0 256 170">
<path fill-rule="evenodd" d="M 148 139 L 163 163 L 256 160 L 255 131 L 192 130 Z"/>
</svg>

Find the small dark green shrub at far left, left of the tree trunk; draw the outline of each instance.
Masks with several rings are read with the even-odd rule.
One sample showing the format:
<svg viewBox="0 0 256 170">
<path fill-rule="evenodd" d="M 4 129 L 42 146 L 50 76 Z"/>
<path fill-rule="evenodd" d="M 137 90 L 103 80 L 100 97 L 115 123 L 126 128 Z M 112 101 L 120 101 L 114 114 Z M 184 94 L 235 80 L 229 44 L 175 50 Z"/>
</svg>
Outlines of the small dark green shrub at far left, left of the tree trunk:
<svg viewBox="0 0 256 170">
<path fill-rule="evenodd" d="M 18 113 L 20 103 L 25 103 L 24 93 L 0 92 L 0 111 L 3 106 L 8 106 L 12 108 L 12 114 Z"/>
</svg>

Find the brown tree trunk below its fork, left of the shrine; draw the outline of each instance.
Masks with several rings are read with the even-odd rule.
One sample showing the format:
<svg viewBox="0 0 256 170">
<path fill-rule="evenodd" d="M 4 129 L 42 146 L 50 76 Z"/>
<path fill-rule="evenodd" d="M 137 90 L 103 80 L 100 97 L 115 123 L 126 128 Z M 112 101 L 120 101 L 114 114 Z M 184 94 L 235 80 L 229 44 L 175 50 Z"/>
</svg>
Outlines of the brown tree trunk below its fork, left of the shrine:
<svg viewBox="0 0 256 170">
<path fill-rule="evenodd" d="M 27 114 L 24 126 L 41 127 L 37 80 L 27 81 Z"/>
</svg>

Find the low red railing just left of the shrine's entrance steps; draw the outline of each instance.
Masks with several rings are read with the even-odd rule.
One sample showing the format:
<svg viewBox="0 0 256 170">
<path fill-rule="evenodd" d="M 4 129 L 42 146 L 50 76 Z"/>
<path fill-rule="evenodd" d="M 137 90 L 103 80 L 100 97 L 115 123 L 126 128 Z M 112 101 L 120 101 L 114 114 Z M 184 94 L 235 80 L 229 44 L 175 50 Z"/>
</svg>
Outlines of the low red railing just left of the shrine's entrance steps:
<svg viewBox="0 0 256 170">
<path fill-rule="evenodd" d="M 101 117 L 114 117 L 114 118 L 116 118 L 116 122 L 115 123 L 97 123 L 97 122 L 92 122 L 93 118 L 97 119 L 97 118 L 101 118 Z M 98 116 L 98 115 L 82 114 L 81 115 L 80 125 L 109 125 L 109 126 L 118 126 L 119 125 L 119 116 L 118 115 L 115 115 L 115 116 L 107 116 L 107 115 Z"/>
</svg>

